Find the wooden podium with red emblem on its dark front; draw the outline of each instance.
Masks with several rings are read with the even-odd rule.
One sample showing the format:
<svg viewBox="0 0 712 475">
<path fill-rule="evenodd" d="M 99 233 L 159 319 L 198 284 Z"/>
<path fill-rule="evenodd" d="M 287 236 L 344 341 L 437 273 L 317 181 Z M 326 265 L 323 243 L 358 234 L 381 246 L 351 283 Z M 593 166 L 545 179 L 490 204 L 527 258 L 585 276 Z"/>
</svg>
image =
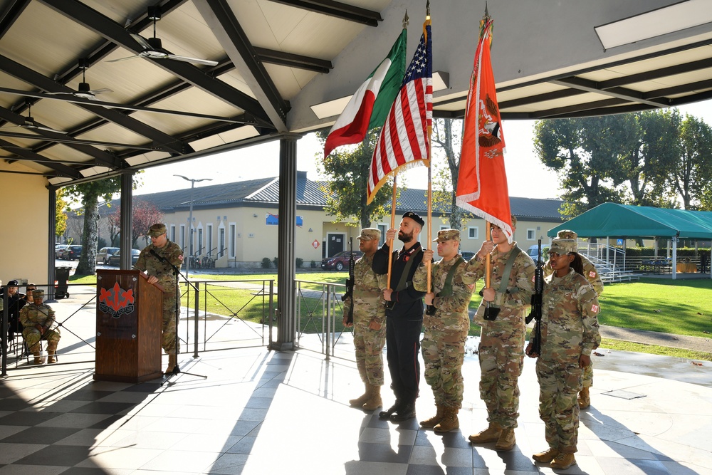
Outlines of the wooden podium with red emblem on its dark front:
<svg viewBox="0 0 712 475">
<path fill-rule="evenodd" d="M 97 271 L 95 380 L 142 382 L 163 375 L 163 291 L 140 271 Z"/>
</svg>

